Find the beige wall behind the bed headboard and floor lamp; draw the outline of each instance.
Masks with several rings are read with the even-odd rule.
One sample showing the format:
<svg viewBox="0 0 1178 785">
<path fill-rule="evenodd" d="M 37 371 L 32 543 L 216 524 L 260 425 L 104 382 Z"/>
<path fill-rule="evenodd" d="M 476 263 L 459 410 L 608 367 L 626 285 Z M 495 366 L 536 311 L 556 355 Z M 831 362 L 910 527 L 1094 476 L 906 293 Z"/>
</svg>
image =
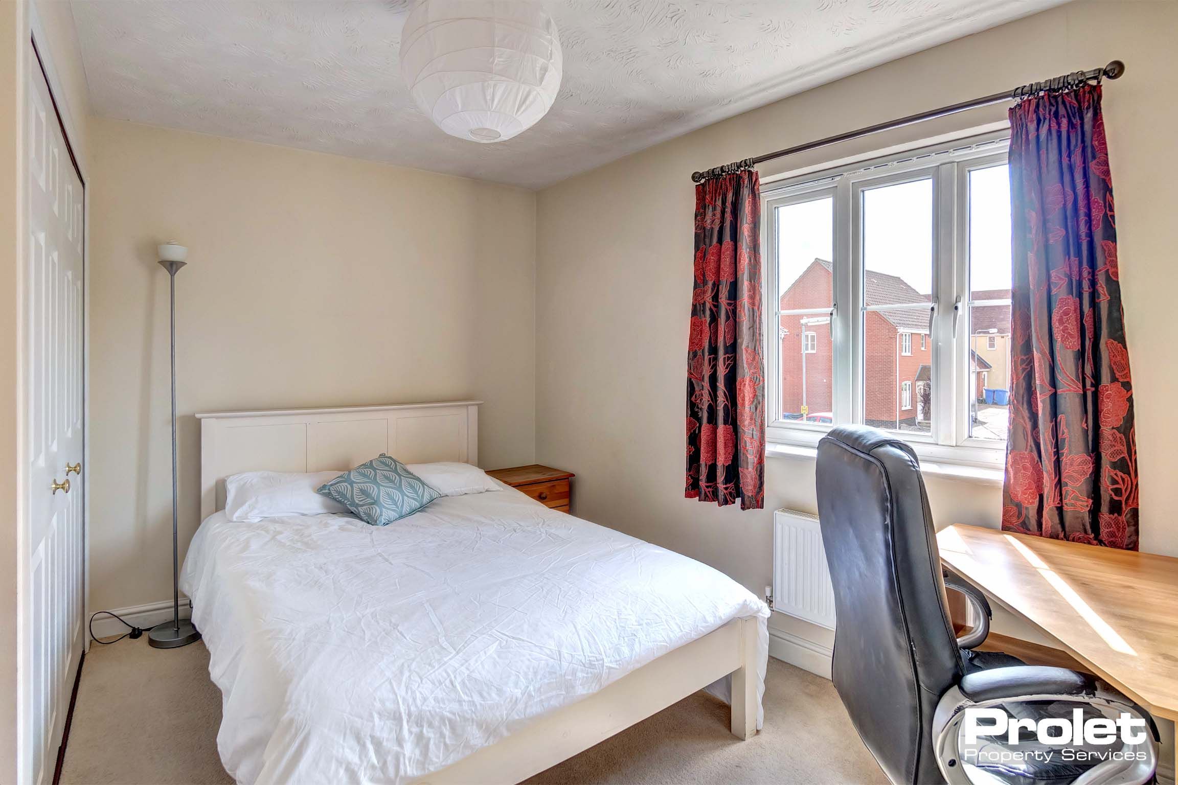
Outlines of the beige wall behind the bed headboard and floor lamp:
<svg viewBox="0 0 1178 785">
<path fill-rule="evenodd" d="M 193 413 L 477 398 L 483 466 L 530 463 L 535 194 L 319 153 L 91 122 L 91 608 L 171 597 L 167 274 L 180 540 Z"/>
</svg>

